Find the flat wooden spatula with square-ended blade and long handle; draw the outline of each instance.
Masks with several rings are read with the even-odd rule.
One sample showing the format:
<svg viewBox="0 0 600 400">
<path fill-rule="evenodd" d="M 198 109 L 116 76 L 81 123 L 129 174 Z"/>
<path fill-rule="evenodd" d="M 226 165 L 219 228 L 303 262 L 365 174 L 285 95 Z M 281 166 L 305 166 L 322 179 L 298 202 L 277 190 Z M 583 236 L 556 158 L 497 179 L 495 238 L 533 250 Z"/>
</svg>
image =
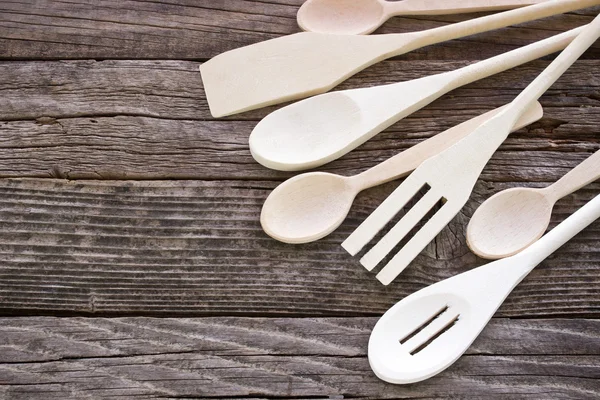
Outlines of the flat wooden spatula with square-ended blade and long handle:
<svg viewBox="0 0 600 400">
<path fill-rule="evenodd" d="M 353 36 L 302 32 L 220 54 L 200 66 L 212 115 L 323 93 L 386 58 L 447 40 L 600 4 L 551 0 L 421 32 Z"/>
</svg>

